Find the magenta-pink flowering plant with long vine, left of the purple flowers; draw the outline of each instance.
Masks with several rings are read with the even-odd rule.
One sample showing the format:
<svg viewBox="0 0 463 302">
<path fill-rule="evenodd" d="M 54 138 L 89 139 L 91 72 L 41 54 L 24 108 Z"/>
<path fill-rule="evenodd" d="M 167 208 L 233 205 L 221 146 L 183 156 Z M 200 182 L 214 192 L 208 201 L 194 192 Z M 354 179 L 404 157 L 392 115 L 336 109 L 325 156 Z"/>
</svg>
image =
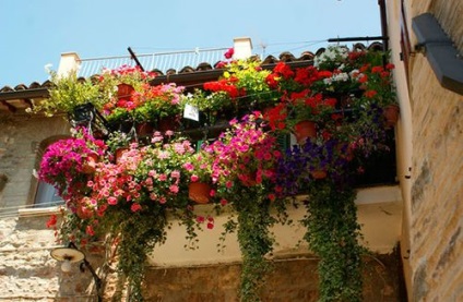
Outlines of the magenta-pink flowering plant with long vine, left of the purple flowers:
<svg viewBox="0 0 463 302">
<path fill-rule="evenodd" d="M 269 228 L 276 221 L 270 206 L 275 200 L 274 164 L 281 153 L 275 137 L 264 131 L 261 119 L 261 113 L 254 112 L 240 122 L 230 121 L 232 129 L 205 147 L 213 158 L 215 195 L 238 213 L 238 225 L 228 224 L 226 229 L 238 228 L 242 255 L 239 294 L 244 301 L 259 300 L 270 269 L 265 255 L 273 249 Z"/>
</svg>

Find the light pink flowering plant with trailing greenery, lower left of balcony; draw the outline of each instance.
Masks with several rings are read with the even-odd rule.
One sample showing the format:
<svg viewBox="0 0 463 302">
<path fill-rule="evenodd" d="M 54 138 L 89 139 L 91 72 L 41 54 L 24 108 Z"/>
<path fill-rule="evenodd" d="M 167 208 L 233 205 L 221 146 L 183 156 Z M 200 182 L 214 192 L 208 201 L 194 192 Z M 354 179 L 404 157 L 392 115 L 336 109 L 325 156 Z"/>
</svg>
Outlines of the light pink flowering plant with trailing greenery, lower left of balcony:
<svg viewBox="0 0 463 302">
<path fill-rule="evenodd" d="M 128 277 L 134 301 L 143 300 L 146 255 L 165 241 L 168 216 L 185 224 L 188 239 L 195 238 L 189 178 L 182 170 L 194 149 L 189 141 L 166 135 L 154 133 L 147 146 L 132 143 L 120 161 L 103 161 L 92 176 L 75 179 L 85 194 L 69 192 L 71 200 L 80 201 L 79 209 L 67 215 L 61 228 L 63 240 L 81 244 L 100 235 L 117 238 L 118 268 Z M 63 180 L 66 188 L 72 177 Z"/>
</svg>

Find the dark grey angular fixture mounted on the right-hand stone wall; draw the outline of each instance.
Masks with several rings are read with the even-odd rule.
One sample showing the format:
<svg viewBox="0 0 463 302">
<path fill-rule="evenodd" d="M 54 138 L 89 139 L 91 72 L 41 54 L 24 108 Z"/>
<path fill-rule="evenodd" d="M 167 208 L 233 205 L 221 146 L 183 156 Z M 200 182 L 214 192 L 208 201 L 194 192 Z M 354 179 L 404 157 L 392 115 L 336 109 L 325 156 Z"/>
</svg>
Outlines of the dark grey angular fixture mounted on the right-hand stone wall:
<svg viewBox="0 0 463 302">
<path fill-rule="evenodd" d="M 436 17 L 431 13 L 415 16 L 412 27 L 416 49 L 427 57 L 440 85 L 463 95 L 463 60 Z"/>
</svg>

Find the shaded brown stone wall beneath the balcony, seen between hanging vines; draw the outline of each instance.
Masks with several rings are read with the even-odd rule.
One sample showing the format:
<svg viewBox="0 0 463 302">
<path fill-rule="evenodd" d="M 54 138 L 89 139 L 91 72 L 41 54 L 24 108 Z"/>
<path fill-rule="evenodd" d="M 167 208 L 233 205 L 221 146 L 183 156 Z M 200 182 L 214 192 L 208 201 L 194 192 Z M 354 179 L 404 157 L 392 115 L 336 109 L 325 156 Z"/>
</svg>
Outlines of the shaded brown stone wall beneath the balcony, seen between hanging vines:
<svg viewBox="0 0 463 302">
<path fill-rule="evenodd" d="M 364 301 L 405 301 L 400 283 L 402 274 L 396 254 L 365 258 Z M 262 290 L 262 301 L 318 301 L 318 259 L 277 259 Z M 149 270 L 146 297 L 149 301 L 204 302 L 239 301 L 239 264 L 198 266 L 191 268 L 155 268 Z"/>
</svg>

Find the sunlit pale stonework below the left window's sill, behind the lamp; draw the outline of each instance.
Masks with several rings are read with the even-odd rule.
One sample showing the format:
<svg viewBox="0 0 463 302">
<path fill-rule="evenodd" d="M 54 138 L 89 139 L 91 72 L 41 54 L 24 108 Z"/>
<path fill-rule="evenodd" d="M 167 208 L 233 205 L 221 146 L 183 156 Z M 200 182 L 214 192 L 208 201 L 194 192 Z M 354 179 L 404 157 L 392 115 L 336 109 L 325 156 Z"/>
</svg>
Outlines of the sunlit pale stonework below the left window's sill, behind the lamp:
<svg viewBox="0 0 463 302">
<path fill-rule="evenodd" d="M 0 219 L 0 301 L 96 301 L 90 271 L 70 273 L 50 256 L 57 246 L 48 215 Z M 86 252 L 91 263 L 99 255 Z"/>
</svg>

